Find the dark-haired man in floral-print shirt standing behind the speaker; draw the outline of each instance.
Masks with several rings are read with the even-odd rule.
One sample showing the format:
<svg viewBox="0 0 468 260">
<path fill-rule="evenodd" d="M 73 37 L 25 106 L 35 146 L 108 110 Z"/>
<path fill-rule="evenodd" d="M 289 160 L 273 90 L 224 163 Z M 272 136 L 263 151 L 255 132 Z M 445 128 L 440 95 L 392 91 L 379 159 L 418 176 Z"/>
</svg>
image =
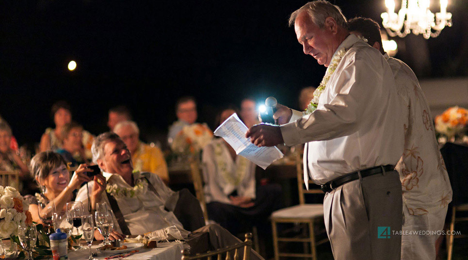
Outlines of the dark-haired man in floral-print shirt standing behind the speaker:
<svg viewBox="0 0 468 260">
<path fill-rule="evenodd" d="M 363 17 L 353 18 L 348 24 L 351 33 L 364 37 L 387 59 L 406 107 L 404 153 L 396 166 L 403 187 L 402 259 L 436 259 L 436 231 L 444 228 L 452 187 L 437 145 L 429 105 L 411 68 L 384 51 L 379 24 Z M 434 234 L 420 234 L 420 230 Z"/>
</svg>

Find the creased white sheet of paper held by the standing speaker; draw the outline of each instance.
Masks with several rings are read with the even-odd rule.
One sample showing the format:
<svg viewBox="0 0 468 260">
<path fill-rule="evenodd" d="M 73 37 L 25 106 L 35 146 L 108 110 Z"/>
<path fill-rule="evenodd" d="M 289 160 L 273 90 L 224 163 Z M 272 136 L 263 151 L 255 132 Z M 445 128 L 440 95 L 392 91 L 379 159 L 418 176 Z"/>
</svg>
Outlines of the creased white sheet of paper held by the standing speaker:
<svg viewBox="0 0 468 260">
<path fill-rule="evenodd" d="M 247 126 L 234 113 L 216 128 L 214 135 L 224 138 L 238 155 L 249 159 L 263 169 L 283 157 L 283 153 L 276 146 L 257 147 L 251 143 L 249 138 L 245 138 L 247 130 Z"/>
</svg>

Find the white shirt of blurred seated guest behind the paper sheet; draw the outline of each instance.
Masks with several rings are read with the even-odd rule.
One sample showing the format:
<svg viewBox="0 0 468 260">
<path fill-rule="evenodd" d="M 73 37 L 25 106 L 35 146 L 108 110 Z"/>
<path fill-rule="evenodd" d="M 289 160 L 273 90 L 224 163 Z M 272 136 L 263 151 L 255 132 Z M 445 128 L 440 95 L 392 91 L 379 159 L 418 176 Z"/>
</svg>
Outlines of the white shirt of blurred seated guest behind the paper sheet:
<svg viewBox="0 0 468 260">
<path fill-rule="evenodd" d="M 233 160 L 222 138 L 205 146 L 202 161 L 207 203 L 231 204 L 228 195 L 234 191 L 238 196 L 255 199 L 256 165 L 241 155 Z"/>
</svg>

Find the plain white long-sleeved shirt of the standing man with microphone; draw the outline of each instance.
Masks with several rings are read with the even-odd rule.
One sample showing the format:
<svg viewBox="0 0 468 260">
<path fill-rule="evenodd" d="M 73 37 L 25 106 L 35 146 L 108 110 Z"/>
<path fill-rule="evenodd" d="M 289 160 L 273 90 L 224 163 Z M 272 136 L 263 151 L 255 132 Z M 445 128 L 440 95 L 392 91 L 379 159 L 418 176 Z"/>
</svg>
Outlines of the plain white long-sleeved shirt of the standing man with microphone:
<svg viewBox="0 0 468 260">
<path fill-rule="evenodd" d="M 387 61 L 353 34 L 337 51 L 342 47 L 349 50 L 317 110 L 293 111 L 291 122 L 280 126 L 286 145 L 306 143 L 306 184 L 309 177 L 324 184 L 359 169 L 396 165 L 403 153 L 403 107 Z"/>
</svg>

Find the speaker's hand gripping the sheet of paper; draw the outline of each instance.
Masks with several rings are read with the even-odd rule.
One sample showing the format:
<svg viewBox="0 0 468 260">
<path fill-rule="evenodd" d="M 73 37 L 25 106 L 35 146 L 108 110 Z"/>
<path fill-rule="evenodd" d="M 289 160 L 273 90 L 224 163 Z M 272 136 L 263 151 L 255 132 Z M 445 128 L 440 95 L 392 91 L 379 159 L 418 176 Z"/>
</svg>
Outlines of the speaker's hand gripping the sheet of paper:
<svg viewBox="0 0 468 260">
<path fill-rule="evenodd" d="M 250 127 L 245 137 L 250 138 L 250 141 L 258 147 L 284 143 L 279 126 L 264 123 Z"/>
</svg>

